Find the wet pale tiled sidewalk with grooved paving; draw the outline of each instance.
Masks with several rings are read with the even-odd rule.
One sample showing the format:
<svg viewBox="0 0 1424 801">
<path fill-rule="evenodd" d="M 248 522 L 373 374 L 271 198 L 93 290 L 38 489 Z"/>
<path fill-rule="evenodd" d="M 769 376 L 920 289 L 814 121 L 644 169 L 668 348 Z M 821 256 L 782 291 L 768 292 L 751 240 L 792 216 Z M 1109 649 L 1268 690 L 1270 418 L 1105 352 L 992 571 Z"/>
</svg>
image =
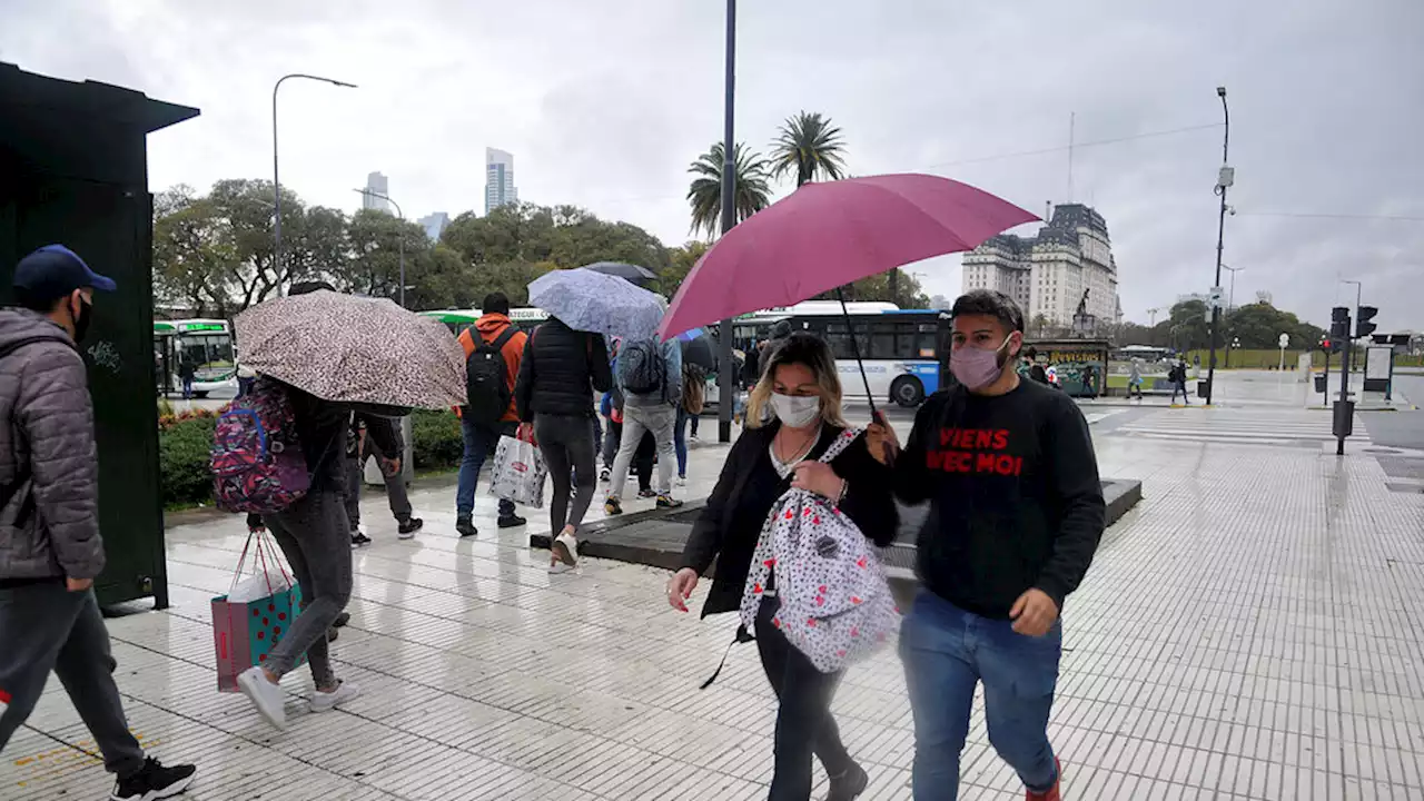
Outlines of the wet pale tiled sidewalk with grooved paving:
<svg viewBox="0 0 1424 801">
<path fill-rule="evenodd" d="M 1102 472 L 1142 479 L 1146 497 L 1068 604 L 1052 730 L 1065 797 L 1424 795 L 1424 497 L 1390 493 L 1367 456 L 1131 436 L 1098 449 Z M 718 453 L 696 453 L 689 495 L 705 495 Z M 429 533 L 407 543 L 382 499 L 365 510 L 376 544 L 356 556 L 333 646 L 363 697 L 309 715 L 298 671 L 286 734 L 215 691 L 208 600 L 241 524 L 169 532 L 174 607 L 110 629 L 132 728 L 161 758 L 199 763 L 189 797 L 765 797 L 775 706 L 755 648 L 696 688 L 733 621 L 668 610 L 651 569 L 551 577 L 527 532 L 460 542 L 434 513 L 449 490 L 414 500 Z M 836 713 L 873 777 L 863 798 L 909 798 L 893 650 L 852 671 Z M 91 747 L 57 683 L 31 725 L 6 750 L 0 797 L 103 798 L 103 770 L 63 745 Z M 964 780 L 961 798 L 1022 797 L 980 708 Z"/>
</svg>

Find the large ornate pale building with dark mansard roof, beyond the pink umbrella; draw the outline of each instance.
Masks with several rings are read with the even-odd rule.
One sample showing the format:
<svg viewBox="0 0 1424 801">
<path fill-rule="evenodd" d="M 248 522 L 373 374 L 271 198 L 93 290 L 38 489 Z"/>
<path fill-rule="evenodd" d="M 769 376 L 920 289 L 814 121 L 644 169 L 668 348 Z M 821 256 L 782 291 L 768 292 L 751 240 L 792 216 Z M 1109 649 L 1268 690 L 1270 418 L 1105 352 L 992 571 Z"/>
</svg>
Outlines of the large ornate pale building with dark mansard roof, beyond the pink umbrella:
<svg viewBox="0 0 1424 801">
<path fill-rule="evenodd" d="M 1035 237 L 1001 234 L 964 254 L 963 284 L 1014 298 L 1030 328 L 1072 328 L 1079 304 L 1098 326 L 1121 318 L 1108 224 L 1082 204 L 1055 208 Z"/>
</svg>

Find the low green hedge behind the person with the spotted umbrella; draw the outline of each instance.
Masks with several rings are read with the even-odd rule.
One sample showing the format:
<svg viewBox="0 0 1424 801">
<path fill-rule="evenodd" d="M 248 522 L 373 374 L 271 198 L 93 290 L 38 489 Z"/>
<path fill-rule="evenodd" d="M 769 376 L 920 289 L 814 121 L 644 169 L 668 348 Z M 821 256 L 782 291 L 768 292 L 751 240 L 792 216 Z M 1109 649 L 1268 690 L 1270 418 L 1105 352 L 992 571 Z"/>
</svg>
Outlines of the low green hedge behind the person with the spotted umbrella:
<svg viewBox="0 0 1424 801">
<path fill-rule="evenodd" d="M 158 470 L 165 507 L 212 503 L 212 412 L 162 415 L 158 419 Z M 413 448 L 419 470 L 450 470 L 460 466 L 464 443 L 454 412 L 417 410 L 412 415 Z"/>
</svg>

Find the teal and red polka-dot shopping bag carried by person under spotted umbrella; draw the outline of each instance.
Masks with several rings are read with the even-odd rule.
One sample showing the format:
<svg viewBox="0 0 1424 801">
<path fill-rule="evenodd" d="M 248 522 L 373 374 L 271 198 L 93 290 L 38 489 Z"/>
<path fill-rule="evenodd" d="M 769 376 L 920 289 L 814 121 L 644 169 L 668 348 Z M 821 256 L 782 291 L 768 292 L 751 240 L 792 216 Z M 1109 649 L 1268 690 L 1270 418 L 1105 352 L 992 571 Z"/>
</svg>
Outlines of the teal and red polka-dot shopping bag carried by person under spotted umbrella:
<svg viewBox="0 0 1424 801">
<path fill-rule="evenodd" d="M 238 674 L 266 661 L 300 609 L 302 589 L 292 580 L 276 543 L 266 532 L 248 534 L 228 594 L 212 599 L 219 693 L 238 691 Z M 306 654 L 298 664 L 302 661 Z"/>
</svg>

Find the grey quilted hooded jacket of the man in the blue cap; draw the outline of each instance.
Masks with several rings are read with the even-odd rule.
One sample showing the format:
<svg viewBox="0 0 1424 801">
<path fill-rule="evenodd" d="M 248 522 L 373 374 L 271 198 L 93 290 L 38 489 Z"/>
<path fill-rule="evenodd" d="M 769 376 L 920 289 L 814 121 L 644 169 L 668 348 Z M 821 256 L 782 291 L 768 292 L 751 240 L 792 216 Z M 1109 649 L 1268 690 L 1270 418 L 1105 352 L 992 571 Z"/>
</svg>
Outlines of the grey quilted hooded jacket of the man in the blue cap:
<svg viewBox="0 0 1424 801">
<path fill-rule="evenodd" d="M 84 358 L 48 318 L 0 309 L 0 582 L 101 570 Z"/>
</svg>

